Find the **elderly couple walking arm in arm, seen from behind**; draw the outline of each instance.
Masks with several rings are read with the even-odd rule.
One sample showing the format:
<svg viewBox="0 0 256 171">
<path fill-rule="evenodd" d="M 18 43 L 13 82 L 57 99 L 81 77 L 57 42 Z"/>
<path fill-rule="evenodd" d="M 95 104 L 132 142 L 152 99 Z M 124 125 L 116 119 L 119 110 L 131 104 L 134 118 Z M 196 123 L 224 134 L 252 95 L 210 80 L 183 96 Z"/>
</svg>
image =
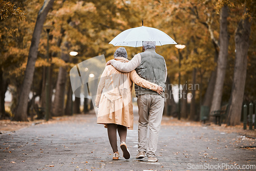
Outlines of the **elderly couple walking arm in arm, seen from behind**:
<svg viewBox="0 0 256 171">
<path fill-rule="evenodd" d="M 148 162 L 157 162 L 158 134 L 164 108 L 164 90 L 167 69 L 163 56 L 156 53 L 155 41 L 143 41 L 144 52 L 136 54 L 132 60 L 127 59 L 125 48 L 118 48 L 114 59 L 106 63 L 97 89 L 95 100 L 99 108 L 97 123 L 104 124 L 114 155 L 119 159 L 117 148 L 117 131 L 120 148 L 125 159 L 130 152 L 125 144 L 127 128 L 133 129 L 132 87 L 135 83 L 138 98 L 138 154 L 136 159 L 145 155 Z M 147 137 L 147 129 L 150 135 Z"/>
</svg>

